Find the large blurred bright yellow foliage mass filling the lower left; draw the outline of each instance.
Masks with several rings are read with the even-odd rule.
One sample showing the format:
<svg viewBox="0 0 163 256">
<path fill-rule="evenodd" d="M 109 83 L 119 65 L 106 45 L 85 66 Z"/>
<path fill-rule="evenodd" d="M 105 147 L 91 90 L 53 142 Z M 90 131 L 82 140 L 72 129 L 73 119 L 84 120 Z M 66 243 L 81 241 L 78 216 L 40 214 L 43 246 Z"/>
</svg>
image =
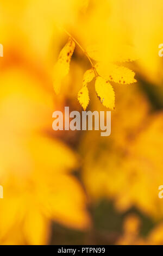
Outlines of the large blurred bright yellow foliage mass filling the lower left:
<svg viewBox="0 0 163 256">
<path fill-rule="evenodd" d="M 51 94 L 16 69 L 3 72 L 1 82 L 1 242 L 45 244 L 51 220 L 87 227 L 86 198 L 70 174 L 76 155 L 48 135 Z"/>
</svg>

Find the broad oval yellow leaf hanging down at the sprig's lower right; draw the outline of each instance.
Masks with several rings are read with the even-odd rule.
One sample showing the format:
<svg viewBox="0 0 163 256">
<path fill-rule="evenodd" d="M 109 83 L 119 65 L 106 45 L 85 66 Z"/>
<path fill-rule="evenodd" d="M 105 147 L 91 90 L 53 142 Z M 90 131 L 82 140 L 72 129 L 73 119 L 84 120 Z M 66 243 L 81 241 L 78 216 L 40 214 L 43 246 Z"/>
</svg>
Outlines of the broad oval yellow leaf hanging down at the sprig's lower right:
<svg viewBox="0 0 163 256">
<path fill-rule="evenodd" d="M 97 77 L 95 82 L 96 93 L 105 107 L 115 108 L 115 93 L 111 84 L 102 77 Z"/>
</svg>

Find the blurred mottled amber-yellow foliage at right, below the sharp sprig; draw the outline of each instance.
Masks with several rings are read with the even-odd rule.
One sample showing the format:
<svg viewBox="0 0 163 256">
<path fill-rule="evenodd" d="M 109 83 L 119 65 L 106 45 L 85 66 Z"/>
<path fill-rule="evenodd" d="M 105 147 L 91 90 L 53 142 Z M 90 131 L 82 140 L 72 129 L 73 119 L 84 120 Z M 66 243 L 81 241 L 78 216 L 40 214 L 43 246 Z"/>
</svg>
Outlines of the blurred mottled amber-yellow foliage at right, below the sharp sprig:
<svg viewBox="0 0 163 256">
<path fill-rule="evenodd" d="M 163 115 L 148 113 L 148 102 L 138 88 L 123 88 L 121 93 L 121 99 L 126 98 L 118 97 L 111 136 L 103 139 L 98 132 L 93 136 L 89 132 L 83 139 L 83 179 L 94 198 L 108 197 L 121 211 L 137 206 L 147 215 L 161 218 L 158 187 L 163 179 Z"/>
</svg>

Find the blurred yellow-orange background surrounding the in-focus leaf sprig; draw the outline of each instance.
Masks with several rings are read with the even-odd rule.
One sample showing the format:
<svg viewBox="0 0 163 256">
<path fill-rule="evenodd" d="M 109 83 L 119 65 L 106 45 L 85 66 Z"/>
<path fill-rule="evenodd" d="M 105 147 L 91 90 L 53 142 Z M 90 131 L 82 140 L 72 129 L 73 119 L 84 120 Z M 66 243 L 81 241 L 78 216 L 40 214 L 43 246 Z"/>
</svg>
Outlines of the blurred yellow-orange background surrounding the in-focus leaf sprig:
<svg viewBox="0 0 163 256">
<path fill-rule="evenodd" d="M 1 245 L 162 245 L 162 0 L 5 0 L 0 3 Z M 53 69 L 66 29 L 84 49 L 117 54 L 137 83 L 112 82 L 111 136 L 53 131 L 52 113 L 82 112 L 90 63 L 74 51 L 59 95 Z M 87 110 L 106 111 L 94 82 Z"/>
</svg>

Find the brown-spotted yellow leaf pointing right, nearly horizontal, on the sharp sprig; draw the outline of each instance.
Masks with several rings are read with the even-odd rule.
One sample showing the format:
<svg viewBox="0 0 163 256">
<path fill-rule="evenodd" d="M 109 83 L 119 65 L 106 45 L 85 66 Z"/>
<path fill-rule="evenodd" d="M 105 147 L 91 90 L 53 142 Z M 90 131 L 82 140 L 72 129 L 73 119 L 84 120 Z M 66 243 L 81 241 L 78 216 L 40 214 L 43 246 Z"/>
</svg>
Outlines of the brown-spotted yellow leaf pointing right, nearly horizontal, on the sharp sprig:
<svg viewBox="0 0 163 256">
<path fill-rule="evenodd" d="M 137 82 L 134 78 L 135 72 L 124 66 L 100 62 L 96 64 L 96 69 L 100 76 L 115 83 L 130 84 Z"/>
</svg>

